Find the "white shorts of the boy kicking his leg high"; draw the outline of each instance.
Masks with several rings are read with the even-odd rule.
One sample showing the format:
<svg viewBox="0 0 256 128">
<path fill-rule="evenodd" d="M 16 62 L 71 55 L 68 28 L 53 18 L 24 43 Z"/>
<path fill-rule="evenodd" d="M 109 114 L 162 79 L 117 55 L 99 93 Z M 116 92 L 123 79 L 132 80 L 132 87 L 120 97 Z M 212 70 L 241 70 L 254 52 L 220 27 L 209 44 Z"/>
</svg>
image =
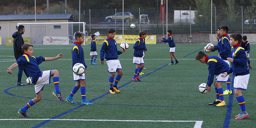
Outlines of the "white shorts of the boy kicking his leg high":
<svg viewBox="0 0 256 128">
<path fill-rule="evenodd" d="M 45 84 L 51 83 L 51 72 L 52 70 L 47 70 L 42 72 L 35 84 L 35 94 L 38 94 L 41 90 L 44 89 Z"/>
</svg>

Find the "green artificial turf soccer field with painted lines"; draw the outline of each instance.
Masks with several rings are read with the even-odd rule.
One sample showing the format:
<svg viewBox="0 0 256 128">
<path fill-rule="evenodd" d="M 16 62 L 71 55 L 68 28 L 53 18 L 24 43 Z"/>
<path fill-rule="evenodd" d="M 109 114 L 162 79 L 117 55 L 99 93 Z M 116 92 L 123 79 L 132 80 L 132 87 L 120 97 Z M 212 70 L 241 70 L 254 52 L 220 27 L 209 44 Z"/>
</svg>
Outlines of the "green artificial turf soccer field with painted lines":
<svg viewBox="0 0 256 128">
<path fill-rule="evenodd" d="M 46 84 L 42 91 L 42 100 L 27 110 L 30 116 L 25 118 L 17 112 L 26 103 L 35 98 L 33 85 L 16 86 L 18 67 L 13 74 L 8 74 L 6 68 L 15 63 L 12 46 L 0 46 L 0 127 L 19 128 L 53 128 L 53 127 L 170 127 L 170 128 L 235 128 L 255 127 L 256 98 L 256 45 L 251 44 L 250 60 L 253 69 L 250 70 L 248 89 L 242 91 L 245 97 L 246 110 L 249 117 L 235 120 L 240 113 L 236 97 L 224 95 L 226 106 L 209 106 L 215 100 L 214 86 L 207 94 L 199 93 L 198 86 L 206 83 L 208 67 L 195 60 L 196 53 L 203 51 L 206 44 L 177 44 L 174 53 L 179 61 L 176 65 L 170 63 L 169 46 L 166 44 L 146 45 L 145 68 L 140 75 L 142 82 L 132 82 L 136 65 L 132 64 L 133 45 L 120 54 L 118 59 L 122 65 L 123 76 L 118 83 L 119 94 L 109 94 L 109 73 L 106 63 L 100 65 L 97 45 L 98 65 L 90 65 L 90 45 L 82 45 L 85 63 L 88 66 L 86 77 L 86 97 L 94 105 L 81 105 L 80 90 L 74 95 L 78 104 L 60 102 L 52 95 L 54 84 Z M 33 56 L 55 57 L 63 53 L 59 60 L 44 61 L 39 65 L 41 71 L 57 69 L 60 74 L 60 91 L 65 100 L 76 82 L 71 70 L 71 50 L 73 45 L 34 45 Z M 118 50 L 121 50 L 118 48 Z M 217 56 L 218 52 L 208 55 Z M 233 77 L 231 89 L 233 91 Z M 52 80 L 51 80 L 52 81 Z M 26 83 L 23 73 L 22 82 Z M 223 90 L 226 83 L 222 84 Z"/>
</svg>

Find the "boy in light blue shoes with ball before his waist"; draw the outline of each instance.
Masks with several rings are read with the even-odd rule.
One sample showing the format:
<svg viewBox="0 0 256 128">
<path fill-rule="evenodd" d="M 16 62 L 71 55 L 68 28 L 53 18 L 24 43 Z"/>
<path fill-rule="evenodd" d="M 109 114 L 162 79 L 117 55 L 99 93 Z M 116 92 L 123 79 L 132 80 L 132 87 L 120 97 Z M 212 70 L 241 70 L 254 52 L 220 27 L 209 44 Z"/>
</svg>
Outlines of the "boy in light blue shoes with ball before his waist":
<svg viewBox="0 0 256 128">
<path fill-rule="evenodd" d="M 72 67 L 76 64 L 76 63 L 81 63 L 84 65 L 85 67 L 85 71 L 84 73 L 86 73 L 86 64 L 84 62 L 84 54 L 83 54 L 83 48 L 81 46 L 81 44 L 84 42 L 84 33 L 78 31 L 75 33 L 75 38 L 76 38 L 76 42 L 75 45 L 72 48 Z M 93 103 L 90 103 L 89 101 L 87 101 L 86 99 L 86 81 L 85 81 L 85 77 L 84 77 L 84 73 L 82 75 L 76 75 L 73 72 L 73 77 L 74 77 L 74 81 L 76 81 L 76 85 L 74 86 L 73 90 L 71 91 L 71 93 L 69 94 L 69 96 L 66 98 L 67 102 L 71 102 L 71 103 L 75 103 L 76 102 L 73 100 L 73 96 L 76 94 L 76 92 L 78 91 L 78 89 L 80 88 L 81 91 L 81 96 L 82 96 L 82 105 L 93 105 Z"/>
</svg>

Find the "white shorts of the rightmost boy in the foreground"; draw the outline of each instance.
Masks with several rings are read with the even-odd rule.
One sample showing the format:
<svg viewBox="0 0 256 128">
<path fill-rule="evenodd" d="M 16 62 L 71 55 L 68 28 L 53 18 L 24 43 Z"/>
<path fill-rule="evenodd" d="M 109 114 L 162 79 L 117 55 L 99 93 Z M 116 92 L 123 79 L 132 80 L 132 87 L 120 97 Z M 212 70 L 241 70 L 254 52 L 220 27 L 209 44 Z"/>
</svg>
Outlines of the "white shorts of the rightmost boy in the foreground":
<svg viewBox="0 0 256 128">
<path fill-rule="evenodd" d="M 250 74 L 243 76 L 235 76 L 234 78 L 234 89 L 246 90 L 249 82 Z"/>
</svg>

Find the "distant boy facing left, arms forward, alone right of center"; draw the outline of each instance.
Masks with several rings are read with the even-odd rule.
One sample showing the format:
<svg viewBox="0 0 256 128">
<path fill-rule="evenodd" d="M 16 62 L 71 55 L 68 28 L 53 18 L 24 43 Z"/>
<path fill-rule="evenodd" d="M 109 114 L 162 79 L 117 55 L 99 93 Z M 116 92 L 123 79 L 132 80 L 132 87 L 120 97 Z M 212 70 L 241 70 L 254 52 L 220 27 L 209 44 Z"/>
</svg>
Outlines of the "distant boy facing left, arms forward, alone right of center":
<svg viewBox="0 0 256 128">
<path fill-rule="evenodd" d="M 174 52 L 175 52 L 175 43 L 173 41 L 173 37 L 172 37 L 172 30 L 167 30 L 167 35 L 168 35 L 168 38 L 165 39 L 163 37 L 161 37 L 163 40 L 161 40 L 162 42 L 168 42 L 169 43 L 169 47 L 170 47 L 170 57 L 171 57 L 171 63 L 169 64 L 174 64 L 173 63 L 173 57 L 175 59 L 175 64 L 178 64 L 178 60 L 176 58 L 176 56 L 174 55 Z"/>
</svg>

